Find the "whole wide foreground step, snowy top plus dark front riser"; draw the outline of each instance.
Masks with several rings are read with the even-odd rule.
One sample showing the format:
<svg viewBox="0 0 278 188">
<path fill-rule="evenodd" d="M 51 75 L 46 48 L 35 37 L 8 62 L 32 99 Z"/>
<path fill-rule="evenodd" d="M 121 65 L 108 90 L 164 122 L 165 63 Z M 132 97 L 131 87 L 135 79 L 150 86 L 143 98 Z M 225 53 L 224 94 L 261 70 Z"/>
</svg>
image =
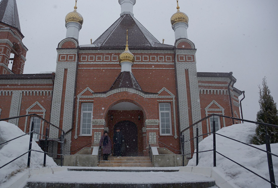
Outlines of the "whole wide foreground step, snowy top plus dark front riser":
<svg viewBox="0 0 278 188">
<path fill-rule="evenodd" d="M 69 167 L 34 175 L 26 188 L 211 188 L 212 178 L 179 168 Z"/>
</svg>

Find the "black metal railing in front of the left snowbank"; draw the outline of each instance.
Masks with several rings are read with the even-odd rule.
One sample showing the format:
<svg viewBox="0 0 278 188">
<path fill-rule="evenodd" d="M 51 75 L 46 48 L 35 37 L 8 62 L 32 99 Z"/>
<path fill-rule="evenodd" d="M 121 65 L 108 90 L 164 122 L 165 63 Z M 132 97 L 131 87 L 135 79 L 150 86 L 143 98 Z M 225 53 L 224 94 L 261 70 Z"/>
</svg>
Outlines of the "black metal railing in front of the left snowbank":
<svg viewBox="0 0 278 188">
<path fill-rule="evenodd" d="M 44 153 L 44 164 L 43 164 L 43 166 L 45 167 L 45 166 L 46 166 L 46 156 L 47 156 L 47 154 L 51 154 L 51 153 L 48 152 L 48 141 L 49 141 L 49 140 L 51 140 L 51 141 L 56 141 L 57 143 L 60 143 L 60 154 L 56 153 L 56 155 L 60 155 L 60 163 L 61 163 L 60 165 L 62 166 L 62 164 L 63 164 L 63 154 L 62 154 L 62 153 L 63 153 L 63 143 L 64 143 L 64 136 L 65 136 L 65 132 L 64 132 L 62 129 L 58 128 L 57 126 L 53 125 L 52 123 L 48 122 L 47 120 L 43 119 L 42 117 L 40 117 L 40 116 L 37 115 L 37 114 L 28 114 L 28 115 L 23 115 L 23 116 L 10 117 L 10 118 L 5 118 L 5 119 L 0 119 L 0 121 L 6 121 L 6 120 L 10 120 L 10 119 L 19 119 L 19 118 L 28 117 L 28 116 L 32 116 L 32 117 L 33 117 L 30 132 L 29 132 L 29 133 L 26 133 L 26 134 L 24 134 L 24 135 L 21 135 L 21 136 L 19 136 L 19 137 L 17 137 L 17 138 L 13 138 L 13 139 L 11 139 L 11 140 L 9 140 L 9 141 L 2 142 L 2 143 L 0 143 L 0 145 L 5 144 L 5 143 L 10 142 L 10 141 L 13 141 L 13 140 L 16 140 L 16 139 L 18 139 L 18 138 L 20 138 L 20 137 L 23 137 L 23 136 L 25 136 L 25 135 L 29 135 L 29 134 L 30 134 L 29 150 L 28 150 L 27 152 L 23 153 L 22 155 L 16 157 L 15 159 L 12 159 L 12 160 L 9 161 L 8 163 L 2 165 L 2 166 L 0 167 L 0 169 L 3 168 L 3 167 L 6 166 L 6 165 L 12 163 L 12 162 L 15 161 L 16 159 L 18 159 L 18 158 L 24 156 L 24 155 L 27 154 L 27 153 L 28 153 L 27 167 L 29 168 L 29 167 L 30 167 L 30 161 L 31 161 L 31 151 L 36 151 L 36 152 Z M 44 121 L 45 123 L 47 123 L 45 135 L 42 135 L 42 134 L 37 133 L 37 132 L 34 131 L 34 117 L 37 117 L 37 118 L 41 119 L 42 121 Z M 61 131 L 61 135 L 60 135 L 59 138 L 57 138 L 57 139 L 52 139 L 52 138 L 50 138 L 50 137 L 48 136 L 48 135 L 49 135 L 50 126 L 52 126 L 52 127 L 56 128 L 56 129 L 58 129 L 59 131 Z M 33 141 L 34 133 L 35 133 L 36 135 L 40 135 L 41 138 L 45 138 L 45 139 L 44 139 L 44 141 L 45 141 L 45 145 L 44 145 L 45 151 L 38 151 L 38 150 L 32 149 L 32 141 Z"/>
</svg>

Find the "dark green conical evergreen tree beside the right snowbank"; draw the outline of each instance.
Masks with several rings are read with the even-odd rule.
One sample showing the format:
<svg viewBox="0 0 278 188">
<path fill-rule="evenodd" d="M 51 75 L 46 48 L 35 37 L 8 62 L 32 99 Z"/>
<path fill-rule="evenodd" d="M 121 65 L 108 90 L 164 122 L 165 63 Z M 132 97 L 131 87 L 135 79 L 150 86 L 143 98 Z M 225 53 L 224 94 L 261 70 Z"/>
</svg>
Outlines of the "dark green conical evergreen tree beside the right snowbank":
<svg viewBox="0 0 278 188">
<path fill-rule="evenodd" d="M 263 78 L 263 88 L 259 86 L 259 104 L 260 110 L 257 112 L 257 122 L 269 123 L 278 125 L 278 110 L 273 96 L 270 94 L 270 89 L 267 85 L 266 77 Z M 270 136 L 270 143 L 278 142 L 278 129 L 267 127 Z M 254 144 L 264 144 L 266 136 L 266 128 L 264 125 L 258 125 L 256 128 L 256 136 L 253 138 Z"/>
</svg>

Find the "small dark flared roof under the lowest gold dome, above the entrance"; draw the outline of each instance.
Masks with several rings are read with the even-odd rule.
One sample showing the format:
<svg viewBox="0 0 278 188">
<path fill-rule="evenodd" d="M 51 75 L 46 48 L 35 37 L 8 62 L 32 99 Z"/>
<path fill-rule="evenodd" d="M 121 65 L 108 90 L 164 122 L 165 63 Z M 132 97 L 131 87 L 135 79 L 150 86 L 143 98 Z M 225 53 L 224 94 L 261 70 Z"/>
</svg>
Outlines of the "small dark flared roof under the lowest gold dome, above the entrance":
<svg viewBox="0 0 278 188">
<path fill-rule="evenodd" d="M 119 74 L 119 76 L 116 78 L 115 82 L 111 86 L 110 91 L 118 88 L 132 88 L 142 91 L 135 77 L 129 71 L 123 71 Z"/>
</svg>

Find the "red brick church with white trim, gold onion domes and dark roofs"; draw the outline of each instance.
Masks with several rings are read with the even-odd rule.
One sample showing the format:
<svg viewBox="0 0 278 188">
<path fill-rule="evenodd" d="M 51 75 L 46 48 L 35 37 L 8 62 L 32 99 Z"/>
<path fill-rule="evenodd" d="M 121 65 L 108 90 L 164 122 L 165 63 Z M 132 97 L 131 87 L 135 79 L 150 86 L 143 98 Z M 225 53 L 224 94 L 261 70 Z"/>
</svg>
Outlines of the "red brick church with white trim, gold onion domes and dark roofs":
<svg viewBox="0 0 278 188">
<path fill-rule="evenodd" d="M 64 154 L 98 145 L 105 130 L 112 139 L 119 127 L 125 155 L 144 156 L 149 143 L 180 150 L 180 131 L 212 113 L 240 118 L 242 92 L 234 87 L 232 73 L 197 72 L 196 47 L 187 37 L 189 19 L 178 5 L 169 18 L 172 46 L 160 43 L 134 17 L 136 0 L 118 1 L 119 18 L 87 45 L 78 42 L 83 17 L 75 3 L 65 17 L 55 73 L 23 74 L 28 49 L 16 0 L 1 0 L 0 119 L 40 115 L 66 132 Z M 29 132 L 31 120 L 9 122 Z M 35 131 L 45 134 L 46 123 L 36 117 L 34 122 Z M 216 118 L 217 129 L 229 125 L 231 120 Z M 210 132 L 211 120 L 201 126 L 199 134 Z M 192 133 L 185 132 L 185 139 Z M 58 131 L 51 128 L 50 137 L 58 138 Z M 190 152 L 194 145 L 187 142 L 185 148 Z"/>
</svg>

